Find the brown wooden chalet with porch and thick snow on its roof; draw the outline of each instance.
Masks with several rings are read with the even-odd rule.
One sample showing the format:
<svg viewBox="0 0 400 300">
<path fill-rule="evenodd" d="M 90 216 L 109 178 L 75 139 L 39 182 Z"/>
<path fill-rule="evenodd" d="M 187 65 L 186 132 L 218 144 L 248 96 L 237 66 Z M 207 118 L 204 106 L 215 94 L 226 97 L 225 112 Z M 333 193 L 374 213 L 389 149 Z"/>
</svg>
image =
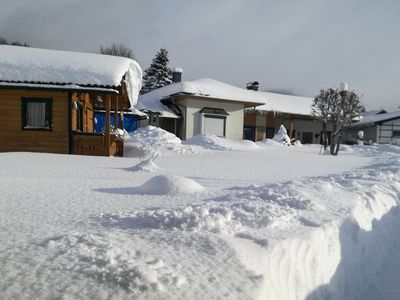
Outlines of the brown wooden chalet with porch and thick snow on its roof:
<svg viewBox="0 0 400 300">
<path fill-rule="evenodd" d="M 123 156 L 118 119 L 123 129 L 140 82 L 128 58 L 0 46 L 0 152 Z M 95 109 L 106 112 L 102 132 Z"/>
</svg>

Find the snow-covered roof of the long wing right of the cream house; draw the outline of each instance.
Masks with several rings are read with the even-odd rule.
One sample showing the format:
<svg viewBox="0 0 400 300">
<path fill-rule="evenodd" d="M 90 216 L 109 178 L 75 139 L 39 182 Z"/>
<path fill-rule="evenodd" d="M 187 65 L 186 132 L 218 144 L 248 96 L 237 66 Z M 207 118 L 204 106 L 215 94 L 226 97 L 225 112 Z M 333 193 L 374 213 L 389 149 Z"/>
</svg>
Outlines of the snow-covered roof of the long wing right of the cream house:
<svg viewBox="0 0 400 300">
<path fill-rule="evenodd" d="M 260 92 L 260 94 L 265 97 L 266 104 L 258 106 L 257 110 L 306 116 L 312 115 L 311 105 L 314 99 L 311 97 L 292 96 L 269 92 Z"/>
</svg>

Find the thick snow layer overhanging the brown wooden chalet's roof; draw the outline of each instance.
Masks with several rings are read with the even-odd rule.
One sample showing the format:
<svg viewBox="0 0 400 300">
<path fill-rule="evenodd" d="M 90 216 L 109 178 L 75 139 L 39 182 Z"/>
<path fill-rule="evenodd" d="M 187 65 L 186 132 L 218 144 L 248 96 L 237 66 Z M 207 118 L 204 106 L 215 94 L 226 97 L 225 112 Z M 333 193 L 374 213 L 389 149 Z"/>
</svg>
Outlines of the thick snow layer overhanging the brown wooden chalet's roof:
<svg viewBox="0 0 400 300">
<path fill-rule="evenodd" d="M 123 77 L 133 106 L 142 71 L 132 59 L 0 45 L 0 82 L 113 88 L 121 84 Z"/>
</svg>

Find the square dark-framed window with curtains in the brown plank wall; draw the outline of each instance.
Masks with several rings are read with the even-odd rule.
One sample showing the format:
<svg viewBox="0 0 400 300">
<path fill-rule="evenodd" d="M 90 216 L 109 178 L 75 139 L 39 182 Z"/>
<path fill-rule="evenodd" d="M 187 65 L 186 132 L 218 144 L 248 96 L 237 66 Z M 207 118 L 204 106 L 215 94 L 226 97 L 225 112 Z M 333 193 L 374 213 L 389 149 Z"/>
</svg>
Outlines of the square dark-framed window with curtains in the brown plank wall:
<svg viewBox="0 0 400 300">
<path fill-rule="evenodd" d="M 22 98 L 22 129 L 52 130 L 52 104 L 48 98 Z"/>
</svg>

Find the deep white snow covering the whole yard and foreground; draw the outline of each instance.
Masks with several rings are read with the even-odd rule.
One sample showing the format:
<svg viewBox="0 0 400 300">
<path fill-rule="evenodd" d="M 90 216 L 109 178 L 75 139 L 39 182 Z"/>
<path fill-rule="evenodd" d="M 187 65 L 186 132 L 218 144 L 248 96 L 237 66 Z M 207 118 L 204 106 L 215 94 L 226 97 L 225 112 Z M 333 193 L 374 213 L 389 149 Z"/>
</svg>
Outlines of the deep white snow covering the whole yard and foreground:
<svg viewBox="0 0 400 300">
<path fill-rule="evenodd" d="M 0 299 L 397 299 L 399 147 L 126 144 L 0 154 Z"/>
</svg>

